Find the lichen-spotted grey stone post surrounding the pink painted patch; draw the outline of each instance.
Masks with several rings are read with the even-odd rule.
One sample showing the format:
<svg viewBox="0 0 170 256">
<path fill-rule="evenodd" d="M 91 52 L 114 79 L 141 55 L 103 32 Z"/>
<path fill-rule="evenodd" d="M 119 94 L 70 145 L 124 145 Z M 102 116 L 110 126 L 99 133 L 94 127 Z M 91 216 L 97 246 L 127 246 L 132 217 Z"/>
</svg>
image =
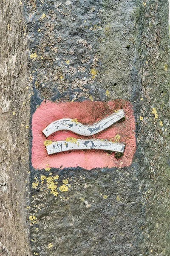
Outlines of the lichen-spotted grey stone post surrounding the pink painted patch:
<svg viewBox="0 0 170 256">
<path fill-rule="evenodd" d="M 23 6 L 27 28 L 22 21 Z M 129 100 L 136 118 L 137 143 L 130 167 L 90 171 L 62 166 L 50 169 L 48 163 L 42 170 L 30 167 L 27 223 L 32 254 L 169 255 L 167 0 L 3 1 L 1 9 L 0 108 L 6 143 L 1 143 L 5 184 L 0 187 L 1 212 L 13 234 L 10 239 L 5 227 L 1 230 L 2 255 L 30 255 L 26 233 L 23 235 L 29 106 L 18 104 L 23 97 L 28 104 L 29 96 L 31 115 L 44 99 Z M 13 14 L 10 21 L 9 12 Z M 24 33 L 29 39 L 28 66 Z M 19 213 L 11 210 L 15 200 Z M 6 214 L 8 210 L 12 215 Z"/>
</svg>

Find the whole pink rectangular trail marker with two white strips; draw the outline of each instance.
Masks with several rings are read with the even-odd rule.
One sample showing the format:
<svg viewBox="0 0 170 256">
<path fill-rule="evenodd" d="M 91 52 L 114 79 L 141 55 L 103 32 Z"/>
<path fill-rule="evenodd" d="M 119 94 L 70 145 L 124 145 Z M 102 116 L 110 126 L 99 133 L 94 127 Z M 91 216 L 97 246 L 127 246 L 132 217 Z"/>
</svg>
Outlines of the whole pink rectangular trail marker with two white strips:
<svg viewBox="0 0 170 256">
<path fill-rule="evenodd" d="M 35 169 L 129 166 L 136 150 L 132 105 L 123 100 L 42 102 L 33 115 L 32 134 Z M 124 154 L 116 159 L 114 151 Z"/>
</svg>

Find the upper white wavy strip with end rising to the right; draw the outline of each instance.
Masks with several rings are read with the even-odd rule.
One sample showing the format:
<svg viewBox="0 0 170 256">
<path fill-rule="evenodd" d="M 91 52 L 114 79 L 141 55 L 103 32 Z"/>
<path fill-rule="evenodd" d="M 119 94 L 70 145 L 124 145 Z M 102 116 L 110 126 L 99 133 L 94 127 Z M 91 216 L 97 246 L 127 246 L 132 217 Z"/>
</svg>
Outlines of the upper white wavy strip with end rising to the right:
<svg viewBox="0 0 170 256">
<path fill-rule="evenodd" d="M 46 137 L 53 134 L 56 131 L 68 130 L 76 134 L 83 136 L 92 136 L 97 134 L 109 126 L 113 125 L 115 122 L 119 121 L 125 116 L 124 111 L 121 109 L 116 113 L 111 114 L 110 116 L 105 117 L 99 122 L 94 123 L 93 125 L 83 125 L 80 122 L 75 122 L 72 119 L 59 119 L 52 122 L 48 125 L 42 132 Z"/>
</svg>

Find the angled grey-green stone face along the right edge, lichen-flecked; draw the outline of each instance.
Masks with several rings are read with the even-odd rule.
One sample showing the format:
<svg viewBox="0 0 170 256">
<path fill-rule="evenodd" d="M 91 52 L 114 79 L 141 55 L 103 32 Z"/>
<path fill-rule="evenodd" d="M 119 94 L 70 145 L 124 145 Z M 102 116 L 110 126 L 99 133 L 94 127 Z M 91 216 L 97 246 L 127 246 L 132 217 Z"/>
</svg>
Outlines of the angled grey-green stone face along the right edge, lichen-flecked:
<svg viewBox="0 0 170 256">
<path fill-rule="evenodd" d="M 140 123 L 137 142 L 144 218 L 142 253 L 163 256 L 170 254 L 168 1 L 144 2 L 137 12 L 141 32 L 138 51 L 143 99 L 140 107 L 136 104 L 143 117 L 142 122 L 137 117 Z"/>
</svg>

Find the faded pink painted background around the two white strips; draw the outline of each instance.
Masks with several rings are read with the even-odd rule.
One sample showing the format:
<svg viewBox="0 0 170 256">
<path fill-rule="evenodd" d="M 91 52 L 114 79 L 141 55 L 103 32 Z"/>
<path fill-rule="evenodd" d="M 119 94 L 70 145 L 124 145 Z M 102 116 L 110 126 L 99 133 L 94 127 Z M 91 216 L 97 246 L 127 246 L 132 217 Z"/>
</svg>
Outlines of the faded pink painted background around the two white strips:
<svg viewBox="0 0 170 256">
<path fill-rule="evenodd" d="M 114 111 L 123 108 L 126 120 L 116 123 L 105 131 L 95 134 L 91 137 L 84 137 L 74 134 L 71 131 L 57 131 L 54 134 L 45 137 L 42 130 L 51 122 L 62 118 L 71 118 L 82 124 L 92 124 L 102 118 L 114 113 Z M 119 142 L 125 143 L 125 153 L 120 159 L 114 157 L 114 153 L 108 155 L 101 150 L 86 151 L 65 151 L 57 154 L 48 155 L 44 146 L 45 140 L 57 141 L 65 140 L 67 137 L 77 139 L 107 139 L 114 140 L 116 134 L 120 135 Z M 32 118 L 32 166 L 35 169 L 48 167 L 65 168 L 80 166 L 90 170 L 103 167 L 124 167 L 130 166 L 133 154 L 136 151 L 135 139 L 135 119 L 133 116 L 133 107 L 130 102 L 124 100 L 114 100 L 111 102 L 66 102 L 54 103 L 44 101 L 35 111 Z"/>
</svg>

